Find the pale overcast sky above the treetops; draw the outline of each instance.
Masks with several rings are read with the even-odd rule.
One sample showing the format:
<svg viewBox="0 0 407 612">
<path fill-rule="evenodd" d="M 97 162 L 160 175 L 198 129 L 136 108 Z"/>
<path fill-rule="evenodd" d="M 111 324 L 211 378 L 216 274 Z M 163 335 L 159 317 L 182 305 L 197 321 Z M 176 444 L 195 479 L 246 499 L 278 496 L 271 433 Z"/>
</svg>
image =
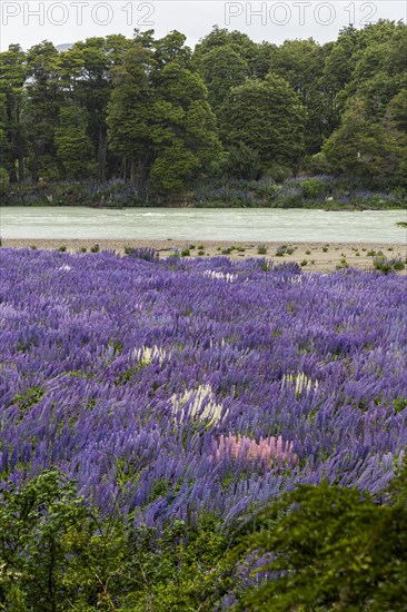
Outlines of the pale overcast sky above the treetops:
<svg viewBox="0 0 407 612">
<path fill-rule="evenodd" d="M 159 37 L 179 30 L 193 47 L 215 24 L 256 41 L 314 37 L 326 42 L 349 23 L 405 21 L 406 7 L 405 0 L 0 0 L 0 49 L 11 42 L 28 49 L 42 40 L 61 45 L 119 32 L 131 37 L 135 28 L 155 29 Z"/>
</svg>

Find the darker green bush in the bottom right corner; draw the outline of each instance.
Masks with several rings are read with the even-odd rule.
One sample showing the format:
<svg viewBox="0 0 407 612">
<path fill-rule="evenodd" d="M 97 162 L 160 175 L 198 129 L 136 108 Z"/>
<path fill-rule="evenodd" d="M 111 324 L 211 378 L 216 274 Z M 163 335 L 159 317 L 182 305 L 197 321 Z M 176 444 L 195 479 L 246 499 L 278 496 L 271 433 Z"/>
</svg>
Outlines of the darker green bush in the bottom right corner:
<svg viewBox="0 0 407 612">
<path fill-rule="evenodd" d="M 405 610 L 407 463 L 379 505 L 357 488 L 301 485 L 262 514 L 274 527 L 238 549 L 274 579 L 244 594 L 237 610 Z"/>
</svg>

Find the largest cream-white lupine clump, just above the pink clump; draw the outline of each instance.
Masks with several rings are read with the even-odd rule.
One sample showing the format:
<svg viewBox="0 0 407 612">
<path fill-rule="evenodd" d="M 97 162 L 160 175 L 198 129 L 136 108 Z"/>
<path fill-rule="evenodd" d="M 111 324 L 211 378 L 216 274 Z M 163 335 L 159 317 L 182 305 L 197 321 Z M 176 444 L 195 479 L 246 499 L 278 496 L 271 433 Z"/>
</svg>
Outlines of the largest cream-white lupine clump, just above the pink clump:
<svg viewBox="0 0 407 612">
<path fill-rule="evenodd" d="M 192 398 L 193 402 L 190 403 Z M 206 399 L 208 399 L 208 403 L 202 409 L 202 404 Z M 216 425 L 228 414 L 228 411 L 224 411 L 222 404 L 217 404 L 215 402 L 210 385 L 199 385 L 197 389 L 186 391 L 183 395 L 172 395 L 172 413 L 178 415 L 177 421 L 180 423 L 183 421 L 183 416 L 186 414 L 185 407 L 188 403 L 190 403 L 188 409 L 189 416 L 192 418 L 197 417 L 199 419 L 208 421 L 209 425 Z"/>
</svg>

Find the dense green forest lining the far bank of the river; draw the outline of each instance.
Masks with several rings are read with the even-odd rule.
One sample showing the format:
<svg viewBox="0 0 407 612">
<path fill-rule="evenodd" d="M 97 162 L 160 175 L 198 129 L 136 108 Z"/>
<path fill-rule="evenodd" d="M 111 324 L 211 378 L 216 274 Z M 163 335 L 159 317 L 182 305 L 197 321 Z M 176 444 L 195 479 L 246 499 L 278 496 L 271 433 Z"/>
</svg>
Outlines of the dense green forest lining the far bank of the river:
<svg viewBox="0 0 407 612">
<path fill-rule="evenodd" d="M 385 20 L 326 45 L 217 27 L 193 51 L 153 30 L 62 52 L 11 45 L 0 53 L 3 200 L 199 205 L 239 199 L 244 185 L 246 204 L 278 206 L 288 180 L 287 207 L 337 200 L 340 181 L 345 198 L 357 186 L 400 203 L 406 49 L 407 27 Z"/>
</svg>

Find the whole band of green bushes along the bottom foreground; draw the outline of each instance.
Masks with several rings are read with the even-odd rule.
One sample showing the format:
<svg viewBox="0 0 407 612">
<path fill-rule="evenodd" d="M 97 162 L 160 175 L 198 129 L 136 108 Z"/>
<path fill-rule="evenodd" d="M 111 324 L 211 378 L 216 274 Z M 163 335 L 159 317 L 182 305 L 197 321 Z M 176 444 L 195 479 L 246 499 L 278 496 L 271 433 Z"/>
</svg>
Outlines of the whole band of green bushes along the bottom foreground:
<svg viewBox="0 0 407 612">
<path fill-rule="evenodd" d="M 209 515 L 160 532 L 101 516 L 46 471 L 0 491 L 0 609 L 401 611 L 406 477 L 405 467 L 386 505 L 302 485 L 227 539 Z"/>
</svg>

